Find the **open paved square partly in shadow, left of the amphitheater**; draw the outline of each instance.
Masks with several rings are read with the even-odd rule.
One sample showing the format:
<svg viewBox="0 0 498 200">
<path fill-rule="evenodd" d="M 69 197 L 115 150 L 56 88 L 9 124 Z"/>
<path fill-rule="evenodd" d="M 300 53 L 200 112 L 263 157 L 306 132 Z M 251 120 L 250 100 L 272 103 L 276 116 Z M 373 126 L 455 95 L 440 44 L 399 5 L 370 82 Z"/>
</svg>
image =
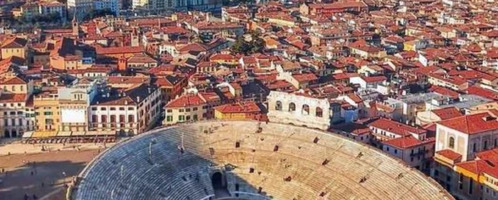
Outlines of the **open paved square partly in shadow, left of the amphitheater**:
<svg viewBox="0 0 498 200">
<path fill-rule="evenodd" d="M 0 200 L 65 199 L 65 183 L 99 150 L 52 151 L 0 156 Z M 3 171 L 3 172 L 2 172 Z"/>
</svg>

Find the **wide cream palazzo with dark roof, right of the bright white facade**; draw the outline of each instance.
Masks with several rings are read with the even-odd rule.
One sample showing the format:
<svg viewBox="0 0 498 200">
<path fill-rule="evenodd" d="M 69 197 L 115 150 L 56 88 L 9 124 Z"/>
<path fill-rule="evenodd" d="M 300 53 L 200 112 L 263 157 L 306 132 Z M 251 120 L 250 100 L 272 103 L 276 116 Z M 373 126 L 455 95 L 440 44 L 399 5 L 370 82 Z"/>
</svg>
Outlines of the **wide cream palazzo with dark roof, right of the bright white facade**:
<svg viewBox="0 0 498 200">
<path fill-rule="evenodd" d="M 152 128 L 161 116 L 161 90 L 140 84 L 132 88 L 105 88 L 88 108 L 90 131 L 133 136 Z"/>
</svg>

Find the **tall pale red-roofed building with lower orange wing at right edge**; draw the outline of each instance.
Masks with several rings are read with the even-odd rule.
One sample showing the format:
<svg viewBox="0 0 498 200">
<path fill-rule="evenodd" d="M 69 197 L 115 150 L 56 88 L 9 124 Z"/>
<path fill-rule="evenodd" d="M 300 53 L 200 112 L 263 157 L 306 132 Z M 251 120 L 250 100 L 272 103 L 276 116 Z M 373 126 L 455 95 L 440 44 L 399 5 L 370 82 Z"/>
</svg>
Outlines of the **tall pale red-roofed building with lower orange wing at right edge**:
<svg viewBox="0 0 498 200">
<path fill-rule="evenodd" d="M 437 123 L 431 176 L 459 199 L 495 199 L 498 120 L 494 112 Z"/>
</svg>

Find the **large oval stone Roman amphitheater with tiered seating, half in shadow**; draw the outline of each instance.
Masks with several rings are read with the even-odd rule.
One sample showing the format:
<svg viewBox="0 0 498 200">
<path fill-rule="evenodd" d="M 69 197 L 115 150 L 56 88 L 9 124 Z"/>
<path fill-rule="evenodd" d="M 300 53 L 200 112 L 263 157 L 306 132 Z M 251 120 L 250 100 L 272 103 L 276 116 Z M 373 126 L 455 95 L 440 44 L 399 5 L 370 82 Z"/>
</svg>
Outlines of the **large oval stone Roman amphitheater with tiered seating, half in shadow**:
<svg viewBox="0 0 498 200">
<path fill-rule="evenodd" d="M 161 128 L 95 158 L 68 197 L 91 199 L 453 199 L 372 147 L 276 123 Z"/>
</svg>

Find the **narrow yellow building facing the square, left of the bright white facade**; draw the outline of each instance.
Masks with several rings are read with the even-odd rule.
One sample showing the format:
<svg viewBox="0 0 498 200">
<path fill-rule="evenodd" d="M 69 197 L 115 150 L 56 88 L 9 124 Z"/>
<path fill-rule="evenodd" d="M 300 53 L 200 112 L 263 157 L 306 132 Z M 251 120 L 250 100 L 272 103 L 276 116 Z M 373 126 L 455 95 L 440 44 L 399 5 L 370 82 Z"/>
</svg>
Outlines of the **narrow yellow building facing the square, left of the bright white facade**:
<svg viewBox="0 0 498 200">
<path fill-rule="evenodd" d="M 57 89 L 50 88 L 35 95 L 33 106 L 36 115 L 36 130 L 38 132 L 55 134 L 59 131 L 60 111 Z"/>
</svg>

